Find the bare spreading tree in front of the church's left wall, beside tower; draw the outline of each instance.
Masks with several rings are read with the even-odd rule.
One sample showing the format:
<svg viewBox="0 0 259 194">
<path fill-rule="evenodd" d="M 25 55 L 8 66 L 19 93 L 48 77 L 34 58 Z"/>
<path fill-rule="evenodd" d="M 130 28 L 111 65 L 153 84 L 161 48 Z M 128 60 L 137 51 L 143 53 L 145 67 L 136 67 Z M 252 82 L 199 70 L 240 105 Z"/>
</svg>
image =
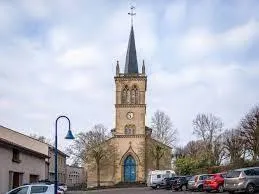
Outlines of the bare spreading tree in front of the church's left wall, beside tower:
<svg viewBox="0 0 259 194">
<path fill-rule="evenodd" d="M 101 167 L 114 164 L 115 147 L 108 140 L 107 129 L 99 124 L 91 131 L 79 133 L 68 153 L 74 156 L 75 162 L 80 161 L 96 169 L 97 187 L 99 187 Z"/>
</svg>

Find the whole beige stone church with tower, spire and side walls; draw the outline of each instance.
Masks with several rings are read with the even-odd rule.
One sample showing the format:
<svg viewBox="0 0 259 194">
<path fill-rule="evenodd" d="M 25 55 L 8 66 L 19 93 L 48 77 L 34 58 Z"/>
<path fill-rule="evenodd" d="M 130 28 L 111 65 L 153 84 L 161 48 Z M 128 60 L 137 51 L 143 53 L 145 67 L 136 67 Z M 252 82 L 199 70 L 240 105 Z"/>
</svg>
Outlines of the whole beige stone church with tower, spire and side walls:
<svg viewBox="0 0 259 194">
<path fill-rule="evenodd" d="M 108 140 L 115 146 L 109 165 L 101 165 L 101 185 L 145 183 L 150 170 L 171 169 L 172 148 L 151 138 L 146 126 L 147 76 L 143 61 L 139 71 L 131 24 L 124 72 L 117 61 L 115 80 L 115 128 Z M 87 169 L 87 185 L 96 186 L 95 168 Z"/>
</svg>

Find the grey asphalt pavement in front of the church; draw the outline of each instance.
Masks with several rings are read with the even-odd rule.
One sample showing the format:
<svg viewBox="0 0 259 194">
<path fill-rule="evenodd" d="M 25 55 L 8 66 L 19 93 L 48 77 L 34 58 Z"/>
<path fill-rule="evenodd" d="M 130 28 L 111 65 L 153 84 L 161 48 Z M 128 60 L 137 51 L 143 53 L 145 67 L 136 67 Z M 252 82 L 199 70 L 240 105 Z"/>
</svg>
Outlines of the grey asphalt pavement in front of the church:
<svg viewBox="0 0 259 194">
<path fill-rule="evenodd" d="M 165 189 L 151 189 L 148 187 L 142 188 L 119 188 L 119 189 L 102 189 L 92 191 L 69 191 L 66 194 L 87 194 L 87 193 L 100 193 L 100 194 L 205 194 L 205 192 L 177 192 Z"/>
</svg>

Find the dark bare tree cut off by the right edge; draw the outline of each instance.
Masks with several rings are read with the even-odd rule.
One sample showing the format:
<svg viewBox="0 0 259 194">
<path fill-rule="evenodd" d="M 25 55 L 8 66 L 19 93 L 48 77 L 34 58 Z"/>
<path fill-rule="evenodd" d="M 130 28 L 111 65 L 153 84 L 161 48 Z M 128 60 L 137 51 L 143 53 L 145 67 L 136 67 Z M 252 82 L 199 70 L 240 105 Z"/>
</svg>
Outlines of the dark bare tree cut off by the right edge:
<svg viewBox="0 0 259 194">
<path fill-rule="evenodd" d="M 259 105 L 250 110 L 240 123 L 241 136 L 253 160 L 259 159 Z"/>
</svg>

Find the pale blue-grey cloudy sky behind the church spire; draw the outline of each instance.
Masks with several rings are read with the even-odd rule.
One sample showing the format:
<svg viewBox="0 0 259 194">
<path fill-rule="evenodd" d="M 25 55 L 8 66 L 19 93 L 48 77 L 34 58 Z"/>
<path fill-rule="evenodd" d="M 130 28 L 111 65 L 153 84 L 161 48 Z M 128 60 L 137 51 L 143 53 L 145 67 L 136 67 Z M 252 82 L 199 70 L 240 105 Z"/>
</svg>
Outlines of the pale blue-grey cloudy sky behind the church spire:
<svg viewBox="0 0 259 194">
<path fill-rule="evenodd" d="M 195 3 L 194 3 L 195 2 Z M 259 103 L 259 2 L 135 1 L 139 64 L 148 75 L 147 122 L 165 111 L 191 139 L 200 112 L 235 127 Z M 59 114 L 73 132 L 114 127 L 116 60 L 124 68 L 128 1 L 0 2 L 0 124 L 52 139 Z M 61 121 L 61 148 L 69 142 Z"/>
</svg>

